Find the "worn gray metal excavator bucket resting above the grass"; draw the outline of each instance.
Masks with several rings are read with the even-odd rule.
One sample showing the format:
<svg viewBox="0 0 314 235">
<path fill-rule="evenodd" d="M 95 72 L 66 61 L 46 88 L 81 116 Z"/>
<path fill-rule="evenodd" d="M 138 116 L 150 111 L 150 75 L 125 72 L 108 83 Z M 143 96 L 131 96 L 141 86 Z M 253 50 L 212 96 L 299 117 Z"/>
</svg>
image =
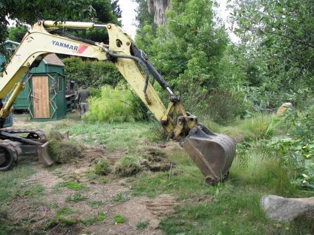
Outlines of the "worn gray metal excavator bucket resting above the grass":
<svg viewBox="0 0 314 235">
<path fill-rule="evenodd" d="M 180 146 L 205 176 L 205 185 L 217 185 L 227 179 L 236 153 L 231 137 L 215 134 L 200 124 L 193 126 L 189 135 L 180 140 Z"/>
</svg>

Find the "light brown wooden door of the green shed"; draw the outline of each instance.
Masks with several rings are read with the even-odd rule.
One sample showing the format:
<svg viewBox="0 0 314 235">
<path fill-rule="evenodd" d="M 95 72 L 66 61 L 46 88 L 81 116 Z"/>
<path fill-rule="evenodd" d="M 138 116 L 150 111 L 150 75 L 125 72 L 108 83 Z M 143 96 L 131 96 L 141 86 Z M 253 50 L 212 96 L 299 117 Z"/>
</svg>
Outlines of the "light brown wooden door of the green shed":
<svg viewBox="0 0 314 235">
<path fill-rule="evenodd" d="M 49 119 L 49 81 L 48 76 L 33 77 L 34 119 Z"/>
</svg>

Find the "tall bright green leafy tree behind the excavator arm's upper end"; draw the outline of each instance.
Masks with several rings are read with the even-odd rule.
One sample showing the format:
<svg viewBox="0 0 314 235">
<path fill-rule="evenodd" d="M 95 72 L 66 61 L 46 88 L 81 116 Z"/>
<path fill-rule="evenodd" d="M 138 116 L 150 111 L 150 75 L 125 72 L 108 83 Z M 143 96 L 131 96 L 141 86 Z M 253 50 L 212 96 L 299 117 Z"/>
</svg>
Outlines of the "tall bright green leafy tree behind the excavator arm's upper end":
<svg viewBox="0 0 314 235">
<path fill-rule="evenodd" d="M 208 87 L 218 85 L 219 61 L 228 39 L 221 22 L 214 20 L 212 6 L 205 0 L 173 0 L 165 13 L 167 23 L 158 27 L 156 36 L 150 25 L 136 35 L 136 44 L 174 89 L 181 76 L 202 77 Z"/>
</svg>

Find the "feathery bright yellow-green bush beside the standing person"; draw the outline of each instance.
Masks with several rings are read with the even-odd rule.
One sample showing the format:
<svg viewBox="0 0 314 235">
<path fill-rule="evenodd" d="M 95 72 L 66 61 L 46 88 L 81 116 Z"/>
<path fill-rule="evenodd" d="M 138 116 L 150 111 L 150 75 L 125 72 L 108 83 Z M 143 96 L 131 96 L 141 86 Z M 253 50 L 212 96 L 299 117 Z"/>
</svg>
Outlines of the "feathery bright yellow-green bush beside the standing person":
<svg viewBox="0 0 314 235">
<path fill-rule="evenodd" d="M 139 102 L 127 86 L 116 89 L 109 85 L 101 88 L 101 97 L 90 99 L 89 112 L 83 116 L 88 122 L 134 122 L 142 118 Z"/>
</svg>

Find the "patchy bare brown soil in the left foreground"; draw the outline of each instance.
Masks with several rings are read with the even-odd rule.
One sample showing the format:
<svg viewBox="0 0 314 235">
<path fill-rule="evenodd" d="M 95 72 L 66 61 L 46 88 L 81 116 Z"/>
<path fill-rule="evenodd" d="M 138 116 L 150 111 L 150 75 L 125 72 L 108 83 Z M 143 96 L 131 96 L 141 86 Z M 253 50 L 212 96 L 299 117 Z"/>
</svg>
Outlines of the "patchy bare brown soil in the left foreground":
<svg viewBox="0 0 314 235">
<path fill-rule="evenodd" d="M 14 128 L 36 128 L 36 123 L 26 122 L 25 118 L 15 118 Z M 53 122 L 47 123 L 53 126 Z M 166 148 L 166 146 L 163 146 Z M 95 158 L 106 158 L 110 165 L 114 166 L 116 160 L 125 150 L 117 150 L 114 153 L 106 153 L 102 147 L 85 146 L 82 158 L 64 165 L 44 167 L 37 161 L 30 162 L 37 171 L 23 184 L 42 185 L 44 194 L 40 199 L 33 200 L 31 196 L 18 196 L 9 205 L 9 213 L 12 221 L 31 224 L 24 227 L 25 233 L 35 231 L 44 234 L 163 234 L 158 228 L 160 220 L 172 212 L 173 206 L 178 202 L 171 195 L 159 195 L 151 199 L 146 197 L 132 197 L 131 186 L 127 180 L 117 178 L 115 175 L 106 176 L 107 183 L 99 183 L 98 179 L 89 179 L 88 174 L 93 169 Z M 103 177 L 103 176 L 100 176 Z M 61 187 L 60 182 L 75 181 L 88 186 L 88 189 L 78 191 L 85 199 L 78 202 L 68 201 L 68 196 L 73 196 L 75 191 L 67 187 Z M 23 185 L 22 185 L 23 189 Z M 122 195 L 117 200 L 117 195 Z M 103 204 L 91 207 L 89 201 L 101 201 Z M 55 206 L 50 206 L 55 205 Z M 75 223 L 74 225 L 57 225 L 47 228 L 47 223 L 55 218 L 57 210 L 62 207 L 71 207 L 74 210 L 67 218 L 75 218 L 78 221 L 86 220 L 104 214 L 104 221 L 97 221 L 89 225 Z M 124 223 L 116 223 L 113 216 L 120 214 L 125 218 Z M 149 221 L 144 229 L 137 228 L 138 222 Z"/>
</svg>

